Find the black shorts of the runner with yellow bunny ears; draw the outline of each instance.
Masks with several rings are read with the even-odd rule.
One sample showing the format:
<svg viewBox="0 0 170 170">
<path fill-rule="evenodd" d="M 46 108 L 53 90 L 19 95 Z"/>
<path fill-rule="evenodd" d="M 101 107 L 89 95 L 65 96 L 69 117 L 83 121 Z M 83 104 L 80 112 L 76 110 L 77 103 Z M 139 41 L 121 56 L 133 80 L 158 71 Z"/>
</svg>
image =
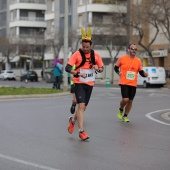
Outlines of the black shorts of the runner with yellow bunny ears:
<svg viewBox="0 0 170 170">
<path fill-rule="evenodd" d="M 75 95 L 77 103 L 85 103 L 87 106 L 90 100 L 90 96 L 93 90 L 93 86 L 87 84 L 75 84 Z"/>
</svg>

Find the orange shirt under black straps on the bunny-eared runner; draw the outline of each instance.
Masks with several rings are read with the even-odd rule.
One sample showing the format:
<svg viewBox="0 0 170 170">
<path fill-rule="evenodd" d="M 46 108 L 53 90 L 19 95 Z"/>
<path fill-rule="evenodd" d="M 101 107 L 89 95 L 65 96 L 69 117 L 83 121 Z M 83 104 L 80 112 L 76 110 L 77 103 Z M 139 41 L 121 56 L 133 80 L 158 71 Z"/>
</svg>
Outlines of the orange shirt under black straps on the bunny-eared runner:
<svg viewBox="0 0 170 170">
<path fill-rule="evenodd" d="M 76 71 L 77 72 L 81 72 L 81 69 L 83 70 L 92 70 L 92 62 L 91 62 L 91 57 L 90 57 L 90 53 L 89 54 L 85 54 L 86 56 L 86 62 L 83 66 L 81 66 L 80 68 L 78 68 Z M 98 67 L 103 67 L 103 61 L 102 58 L 100 57 L 100 55 L 96 52 L 94 52 L 94 56 L 95 56 L 95 62 L 96 65 L 98 65 Z M 80 54 L 79 51 L 76 51 L 69 59 L 68 64 L 70 64 L 71 66 L 73 66 L 74 64 L 76 65 L 76 67 L 78 67 L 82 62 L 82 56 Z M 88 81 L 88 82 L 81 82 L 80 81 L 80 77 L 73 78 L 74 83 L 80 83 L 80 84 L 88 84 L 90 86 L 94 86 L 94 81 Z"/>
</svg>

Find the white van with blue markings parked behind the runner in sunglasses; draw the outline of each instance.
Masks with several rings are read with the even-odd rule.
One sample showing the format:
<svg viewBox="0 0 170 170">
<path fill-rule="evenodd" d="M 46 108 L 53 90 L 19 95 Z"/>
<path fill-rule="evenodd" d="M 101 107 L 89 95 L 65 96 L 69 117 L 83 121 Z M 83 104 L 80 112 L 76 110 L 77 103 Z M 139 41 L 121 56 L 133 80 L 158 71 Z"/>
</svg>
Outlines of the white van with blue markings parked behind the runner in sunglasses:
<svg viewBox="0 0 170 170">
<path fill-rule="evenodd" d="M 148 77 L 142 77 L 138 73 L 137 85 L 147 88 L 149 85 L 163 86 L 166 84 L 166 74 L 163 67 L 143 67 L 143 70 L 148 73 Z"/>
</svg>

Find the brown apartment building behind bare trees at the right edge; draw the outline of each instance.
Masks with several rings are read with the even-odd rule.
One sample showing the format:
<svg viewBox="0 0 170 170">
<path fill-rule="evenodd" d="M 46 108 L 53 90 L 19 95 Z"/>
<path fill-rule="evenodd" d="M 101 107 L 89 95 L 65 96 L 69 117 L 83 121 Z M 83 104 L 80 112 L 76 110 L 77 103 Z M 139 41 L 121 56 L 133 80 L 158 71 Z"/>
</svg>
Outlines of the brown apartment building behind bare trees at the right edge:
<svg viewBox="0 0 170 170">
<path fill-rule="evenodd" d="M 134 0 L 133 4 L 130 4 L 130 9 L 133 9 L 131 11 L 131 17 L 130 17 L 130 21 L 134 22 L 134 18 L 133 16 L 139 16 L 140 14 L 143 13 L 143 10 L 145 10 L 146 16 L 148 17 L 156 17 L 156 19 L 158 17 L 160 17 L 161 15 L 164 14 L 164 10 L 166 10 L 166 7 L 168 7 L 168 5 L 170 5 L 169 1 L 166 1 L 166 5 L 165 4 L 161 4 L 163 3 L 162 1 L 159 1 L 159 5 L 156 4 L 157 1 L 151 2 L 148 0 Z M 158 3 L 158 2 L 157 2 Z M 169 3 L 169 4 L 168 4 Z M 158 5 L 156 7 L 156 5 Z M 153 13 L 153 8 L 156 9 L 154 10 Z M 141 11 L 141 9 L 143 9 Z M 160 10 L 160 11 L 159 11 Z M 148 12 L 149 11 L 149 12 Z M 144 14 L 145 15 L 145 14 Z M 169 17 L 168 15 L 166 16 L 166 18 Z M 136 18 L 136 20 L 140 21 L 139 18 Z M 155 65 L 155 66 L 161 66 L 164 67 L 166 70 L 169 70 L 170 73 L 170 54 L 169 54 L 169 49 L 170 49 L 170 45 L 169 45 L 169 41 L 167 39 L 167 37 L 165 36 L 167 32 L 167 30 L 165 28 L 163 28 L 163 25 L 161 26 L 160 24 L 158 24 L 158 22 L 152 22 L 153 24 L 149 24 L 148 22 L 149 20 L 147 20 L 144 22 L 140 22 L 139 26 L 141 27 L 142 30 L 142 34 L 144 35 L 143 39 L 142 39 L 142 43 L 145 46 L 148 46 L 149 43 L 152 42 L 152 40 L 154 39 L 155 35 L 156 35 L 156 31 L 157 28 L 156 26 L 158 26 L 159 28 L 159 32 L 158 35 L 156 36 L 156 39 L 153 41 L 150 49 L 151 49 L 151 54 L 153 57 L 153 61 L 151 60 L 151 58 L 149 57 L 149 54 L 146 50 L 144 50 L 142 47 L 140 47 L 138 45 L 138 57 L 140 57 L 140 59 L 143 61 L 143 65 L 144 66 L 148 66 L 148 65 Z M 151 21 L 151 19 L 150 19 Z M 151 22 L 150 22 L 151 23 Z M 141 36 L 142 36 L 141 34 Z M 139 41 L 139 31 L 131 28 L 130 29 L 130 40 L 131 42 L 134 42 L 136 44 L 138 44 Z M 153 63 L 154 62 L 154 63 Z"/>
</svg>

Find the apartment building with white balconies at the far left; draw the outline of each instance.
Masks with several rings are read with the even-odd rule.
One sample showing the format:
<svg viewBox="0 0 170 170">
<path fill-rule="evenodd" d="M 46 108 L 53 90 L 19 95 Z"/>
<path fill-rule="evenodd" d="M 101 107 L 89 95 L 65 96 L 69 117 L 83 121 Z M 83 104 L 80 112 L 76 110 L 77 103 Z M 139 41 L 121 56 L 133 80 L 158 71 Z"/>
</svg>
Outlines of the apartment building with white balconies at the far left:
<svg viewBox="0 0 170 170">
<path fill-rule="evenodd" d="M 7 0 L 5 2 L 1 0 L 0 3 L 1 8 L 3 7 L 0 16 L 4 17 L 3 23 L 1 22 L 4 26 L 0 27 L 0 35 L 8 38 L 11 44 L 16 46 L 16 50 L 9 56 L 10 62 L 14 63 L 13 67 L 20 62 L 20 67 L 31 69 L 35 65 L 34 60 L 40 60 L 44 53 L 46 2 L 45 0 Z M 9 68 L 7 65 L 5 67 Z"/>
</svg>

